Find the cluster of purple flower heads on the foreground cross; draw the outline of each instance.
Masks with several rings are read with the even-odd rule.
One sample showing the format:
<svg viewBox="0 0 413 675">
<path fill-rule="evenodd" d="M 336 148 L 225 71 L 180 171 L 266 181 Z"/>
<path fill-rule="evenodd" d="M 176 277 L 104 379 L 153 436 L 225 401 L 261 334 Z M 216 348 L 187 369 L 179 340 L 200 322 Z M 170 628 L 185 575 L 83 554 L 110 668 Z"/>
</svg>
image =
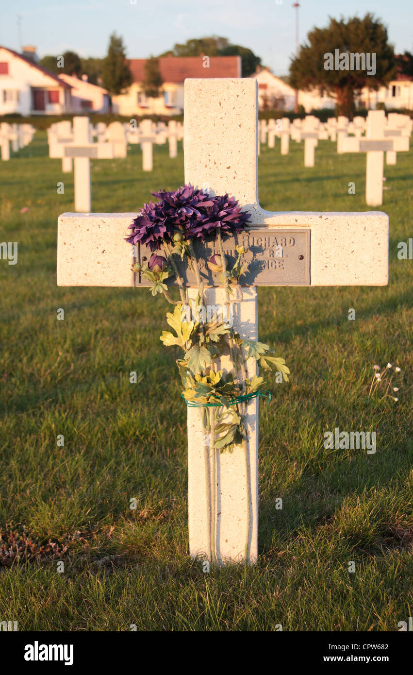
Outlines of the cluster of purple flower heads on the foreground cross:
<svg viewBox="0 0 413 675">
<path fill-rule="evenodd" d="M 191 184 L 173 192 L 159 190 L 152 194 L 159 201 L 144 205 L 129 226 L 132 232 L 126 238 L 130 244 L 144 244 L 152 252 L 159 250 L 163 242 L 171 244 L 177 233 L 186 239 L 202 241 L 215 240 L 217 232 L 223 236 L 236 234 L 250 218 L 234 197 L 228 194 L 210 197 Z"/>
</svg>

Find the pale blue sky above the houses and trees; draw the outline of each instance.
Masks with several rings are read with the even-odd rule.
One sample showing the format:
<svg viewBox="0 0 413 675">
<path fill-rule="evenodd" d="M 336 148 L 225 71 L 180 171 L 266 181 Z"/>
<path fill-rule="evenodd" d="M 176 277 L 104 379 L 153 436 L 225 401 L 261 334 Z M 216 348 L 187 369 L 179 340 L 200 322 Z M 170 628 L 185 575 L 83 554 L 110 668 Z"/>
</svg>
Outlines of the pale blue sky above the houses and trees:
<svg viewBox="0 0 413 675">
<path fill-rule="evenodd" d="M 413 0 L 299 0 L 299 38 L 323 28 L 329 16 L 364 16 L 387 26 L 396 53 L 413 49 Z M 292 0 L 13 0 L 3 4 L 0 45 L 20 51 L 34 45 L 41 58 L 67 49 L 82 57 L 103 57 L 109 35 L 123 37 L 130 58 L 159 55 L 189 38 L 219 35 L 249 47 L 275 75 L 288 72 L 295 49 L 296 9 Z"/>
</svg>

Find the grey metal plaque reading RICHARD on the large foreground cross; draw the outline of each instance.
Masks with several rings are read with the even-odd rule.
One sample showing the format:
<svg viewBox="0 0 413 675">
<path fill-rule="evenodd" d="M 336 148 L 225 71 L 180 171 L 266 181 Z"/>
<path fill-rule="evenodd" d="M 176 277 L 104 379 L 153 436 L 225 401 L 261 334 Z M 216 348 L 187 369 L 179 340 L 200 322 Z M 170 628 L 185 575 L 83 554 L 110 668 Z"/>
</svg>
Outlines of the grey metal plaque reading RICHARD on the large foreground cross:
<svg viewBox="0 0 413 675">
<path fill-rule="evenodd" d="M 240 286 L 310 286 L 310 229 L 270 229 L 269 227 L 248 229 L 223 242 L 227 269 L 236 263 L 237 245 L 248 248 L 242 261 L 249 263 L 248 270 L 240 276 Z M 217 242 L 202 244 L 194 241 L 200 274 L 205 286 L 222 286 L 219 272 L 212 272 L 206 264 L 212 255 L 219 255 Z M 152 253 L 146 246 L 136 244 L 135 261 L 145 265 Z M 159 255 L 165 256 L 163 251 Z M 186 259 L 179 255 L 173 259 L 184 279 L 184 286 L 196 286 L 196 277 L 188 269 Z M 139 273 L 134 274 L 134 286 L 150 286 L 150 282 Z M 177 286 L 175 278 L 166 281 Z"/>
</svg>

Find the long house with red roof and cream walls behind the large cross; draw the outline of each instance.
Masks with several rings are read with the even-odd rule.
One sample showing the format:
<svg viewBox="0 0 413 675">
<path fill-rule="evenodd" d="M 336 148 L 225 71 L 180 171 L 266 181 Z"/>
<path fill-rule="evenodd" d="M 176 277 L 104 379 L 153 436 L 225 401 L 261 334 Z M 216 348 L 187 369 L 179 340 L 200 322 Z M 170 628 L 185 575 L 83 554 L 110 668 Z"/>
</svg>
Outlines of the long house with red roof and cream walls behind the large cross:
<svg viewBox="0 0 413 675">
<path fill-rule="evenodd" d="M 130 59 L 133 83 L 125 93 L 112 97 L 113 112 L 119 115 L 180 115 L 184 111 L 186 78 L 240 78 L 240 56 L 160 57 L 162 95 L 147 99 L 142 88 L 146 59 Z"/>
</svg>

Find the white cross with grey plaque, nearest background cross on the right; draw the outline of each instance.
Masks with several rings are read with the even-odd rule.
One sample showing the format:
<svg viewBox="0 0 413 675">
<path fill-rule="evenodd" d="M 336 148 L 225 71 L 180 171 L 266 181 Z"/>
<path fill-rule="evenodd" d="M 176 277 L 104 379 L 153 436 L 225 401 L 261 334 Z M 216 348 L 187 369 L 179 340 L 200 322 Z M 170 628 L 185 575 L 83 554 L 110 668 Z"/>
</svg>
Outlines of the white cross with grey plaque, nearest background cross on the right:
<svg viewBox="0 0 413 675">
<path fill-rule="evenodd" d="M 346 136 L 341 139 L 341 153 L 367 153 L 366 204 L 383 204 L 383 165 L 386 151 L 408 151 L 407 136 L 387 136 L 385 111 L 370 110 L 367 115 L 365 138 Z M 389 134 L 391 134 L 389 130 Z"/>
</svg>

